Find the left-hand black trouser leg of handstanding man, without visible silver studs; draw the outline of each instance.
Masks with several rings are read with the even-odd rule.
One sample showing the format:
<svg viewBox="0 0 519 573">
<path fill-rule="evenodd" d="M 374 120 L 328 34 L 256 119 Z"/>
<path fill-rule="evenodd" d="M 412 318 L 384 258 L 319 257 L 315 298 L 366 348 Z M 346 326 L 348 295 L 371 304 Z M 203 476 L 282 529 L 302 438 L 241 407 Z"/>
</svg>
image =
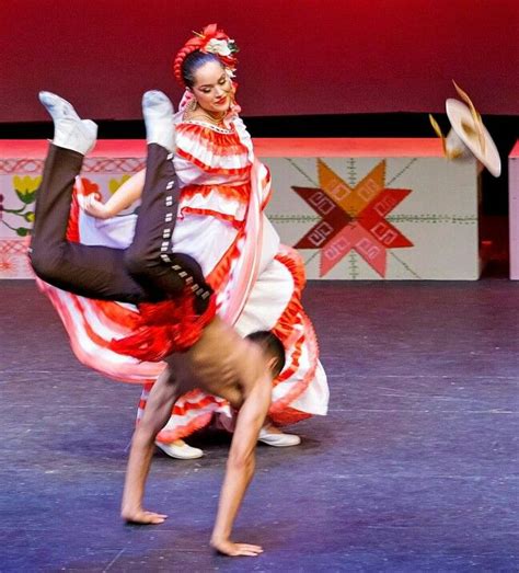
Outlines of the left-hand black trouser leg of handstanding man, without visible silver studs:
<svg viewBox="0 0 519 573">
<path fill-rule="evenodd" d="M 141 302 L 146 289 L 124 264 L 125 251 L 67 241 L 76 175 L 83 156 L 50 145 L 42 184 L 36 193 L 31 263 L 43 280 L 89 298 Z"/>
</svg>

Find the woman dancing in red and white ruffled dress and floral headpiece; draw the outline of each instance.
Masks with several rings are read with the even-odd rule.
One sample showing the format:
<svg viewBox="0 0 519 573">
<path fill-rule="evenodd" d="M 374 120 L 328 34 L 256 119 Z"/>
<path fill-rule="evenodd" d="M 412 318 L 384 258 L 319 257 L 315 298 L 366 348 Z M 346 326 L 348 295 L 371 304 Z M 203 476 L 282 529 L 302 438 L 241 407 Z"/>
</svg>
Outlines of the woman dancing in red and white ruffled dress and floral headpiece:
<svg viewBox="0 0 519 573">
<path fill-rule="evenodd" d="M 175 77 L 185 87 L 175 115 L 174 165 L 181 197 L 173 244 L 196 259 L 217 293 L 217 311 L 241 335 L 272 330 L 287 349 L 287 366 L 274 381 L 270 420 L 277 425 L 312 414 L 325 414 L 328 391 L 313 328 L 301 307 L 304 268 L 298 254 L 279 244 L 263 214 L 270 193 L 269 173 L 254 158 L 250 135 L 234 102 L 235 45 L 216 25 L 192 37 L 174 61 Z M 135 216 L 113 218 L 139 198 L 145 173 L 129 180 L 105 204 L 79 192 L 74 231 L 81 242 L 120 248 L 131 242 Z M 97 218 L 95 218 L 97 217 Z M 111 218 L 107 218 L 111 217 Z M 72 217 L 74 220 L 76 218 Z M 104 219 L 104 220 L 102 220 Z M 168 245 L 168 242 L 165 242 Z M 151 382 L 158 365 L 114 356 L 106 341 L 131 332 L 135 311 L 113 302 L 78 299 L 44 286 L 60 312 L 78 357 L 103 374 L 131 382 Z M 70 299 L 72 297 L 72 300 Z M 151 383 L 145 386 L 138 417 Z M 201 391 L 182 397 L 159 434 L 168 454 L 191 456 L 175 440 L 207 425 L 214 414 L 226 425 L 233 417 L 229 404 Z M 295 445 L 298 436 L 270 425 L 261 439 Z M 193 448 L 194 449 L 194 448 Z"/>
</svg>

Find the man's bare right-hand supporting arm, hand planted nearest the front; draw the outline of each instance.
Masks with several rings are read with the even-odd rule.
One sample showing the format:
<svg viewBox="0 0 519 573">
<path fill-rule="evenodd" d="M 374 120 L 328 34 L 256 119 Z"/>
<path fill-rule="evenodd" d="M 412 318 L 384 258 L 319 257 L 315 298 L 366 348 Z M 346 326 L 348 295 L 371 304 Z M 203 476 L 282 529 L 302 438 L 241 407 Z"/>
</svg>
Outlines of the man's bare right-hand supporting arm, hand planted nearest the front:
<svg viewBox="0 0 519 573">
<path fill-rule="evenodd" d="M 270 404 L 270 392 L 272 380 L 268 373 L 264 371 L 246 393 L 238 414 L 211 536 L 211 546 L 227 555 L 255 557 L 263 552 L 260 546 L 237 543 L 230 538 L 237 513 L 254 474 L 254 452 Z"/>
</svg>

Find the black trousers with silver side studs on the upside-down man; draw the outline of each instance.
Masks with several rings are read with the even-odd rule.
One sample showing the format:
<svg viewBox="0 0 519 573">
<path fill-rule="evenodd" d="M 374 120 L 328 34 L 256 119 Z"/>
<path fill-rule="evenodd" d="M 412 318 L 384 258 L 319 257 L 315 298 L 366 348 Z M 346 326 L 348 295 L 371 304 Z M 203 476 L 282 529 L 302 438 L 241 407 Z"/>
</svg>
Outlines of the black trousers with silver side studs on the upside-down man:
<svg viewBox="0 0 519 573">
<path fill-rule="evenodd" d="M 178 186 L 168 151 L 148 146 L 147 175 L 134 242 L 128 249 L 90 247 L 67 241 L 72 188 L 82 156 L 50 146 L 36 194 L 31 262 L 45 282 L 89 298 L 120 302 L 157 302 L 196 287 L 196 309 L 203 312 L 212 293 L 191 256 L 170 252 L 176 221 Z M 168 188 L 170 187 L 170 188 Z M 166 197 L 171 197 L 168 200 Z M 171 221 L 165 222 L 170 214 Z M 163 245 L 168 249 L 161 251 Z M 169 262 L 162 255 L 166 254 Z"/>
</svg>

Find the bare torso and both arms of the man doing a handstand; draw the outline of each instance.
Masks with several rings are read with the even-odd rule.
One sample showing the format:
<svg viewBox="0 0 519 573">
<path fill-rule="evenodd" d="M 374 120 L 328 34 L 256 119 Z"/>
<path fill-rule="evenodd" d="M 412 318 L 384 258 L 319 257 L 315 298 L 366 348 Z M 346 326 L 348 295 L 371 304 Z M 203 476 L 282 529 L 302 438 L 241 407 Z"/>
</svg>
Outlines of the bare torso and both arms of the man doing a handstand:
<svg viewBox="0 0 519 573">
<path fill-rule="evenodd" d="M 260 546 L 235 543 L 230 539 L 232 524 L 254 473 L 254 451 L 260 428 L 270 403 L 272 379 L 277 358 L 253 342 L 241 339 L 220 319 L 209 323 L 199 341 L 186 353 L 166 358 L 168 369 L 153 385 L 145 415 L 134 434 L 128 461 L 122 516 L 132 523 L 162 523 L 162 514 L 142 507 L 145 483 L 151 465 L 157 433 L 168 420 L 174 401 L 193 388 L 204 388 L 239 408 L 226 478 L 211 546 L 219 552 L 256 555 Z M 218 373 L 228 369 L 227 381 Z M 174 374 L 173 374 L 174 373 Z"/>
</svg>

